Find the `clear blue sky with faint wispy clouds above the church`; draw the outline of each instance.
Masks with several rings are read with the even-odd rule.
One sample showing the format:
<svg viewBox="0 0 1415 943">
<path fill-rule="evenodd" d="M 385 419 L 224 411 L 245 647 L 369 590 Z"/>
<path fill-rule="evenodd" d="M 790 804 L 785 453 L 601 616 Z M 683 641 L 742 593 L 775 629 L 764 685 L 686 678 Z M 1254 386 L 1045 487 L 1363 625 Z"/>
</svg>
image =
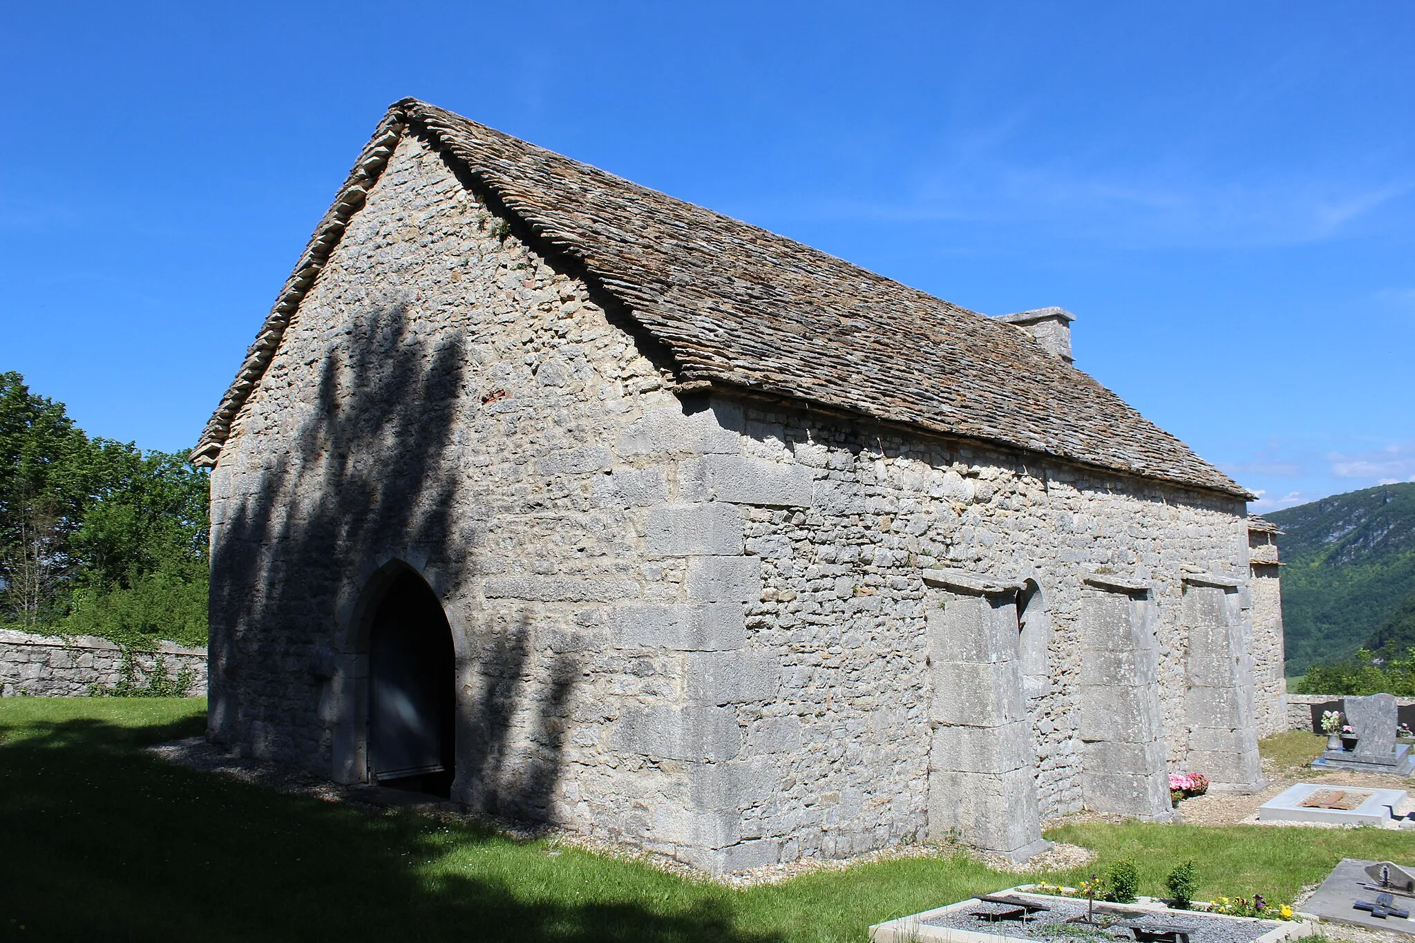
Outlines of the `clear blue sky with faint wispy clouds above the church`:
<svg viewBox="0 0 1415 943">
<path fill-rule="evenodd" d="M 1258 509 L 1415 479 L 1415 7 L 4 4 L 0 369 L 192 444 L 416 95 L 988 314 Z"/>
</svg>

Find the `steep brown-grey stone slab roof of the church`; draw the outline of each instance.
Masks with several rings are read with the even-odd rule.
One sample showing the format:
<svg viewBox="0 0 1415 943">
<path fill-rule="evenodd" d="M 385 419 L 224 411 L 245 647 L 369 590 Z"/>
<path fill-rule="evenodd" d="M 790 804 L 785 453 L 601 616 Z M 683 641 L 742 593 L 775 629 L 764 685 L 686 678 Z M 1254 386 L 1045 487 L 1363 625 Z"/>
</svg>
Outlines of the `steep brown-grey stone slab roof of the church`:
<svg viewBox="0 0 1415 943">
<path fill-rule="evenodd" d="M 1010 324 L 415 99 L 389 109 L 359 156 L 194 462 L 215 464 L 300 298 L 408 131 L 617 297 L 689 389 L 734 387 L 1252 498 Z"/>
</svg>

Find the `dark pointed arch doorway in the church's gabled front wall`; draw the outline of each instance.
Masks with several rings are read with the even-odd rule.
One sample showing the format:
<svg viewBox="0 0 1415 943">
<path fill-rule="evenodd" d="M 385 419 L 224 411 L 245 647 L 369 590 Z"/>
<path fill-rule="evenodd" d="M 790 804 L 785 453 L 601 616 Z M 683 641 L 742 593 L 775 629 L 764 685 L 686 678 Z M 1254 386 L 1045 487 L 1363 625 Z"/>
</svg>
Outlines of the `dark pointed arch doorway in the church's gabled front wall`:
<svg viewBox="0 0 1415 943">
<path fill-rule="evenodd" d="M 393 578 L 369 635 L 369 782 L 449 797 L 456 775 L 451 626 L 412 570 Z"/>
</svg>

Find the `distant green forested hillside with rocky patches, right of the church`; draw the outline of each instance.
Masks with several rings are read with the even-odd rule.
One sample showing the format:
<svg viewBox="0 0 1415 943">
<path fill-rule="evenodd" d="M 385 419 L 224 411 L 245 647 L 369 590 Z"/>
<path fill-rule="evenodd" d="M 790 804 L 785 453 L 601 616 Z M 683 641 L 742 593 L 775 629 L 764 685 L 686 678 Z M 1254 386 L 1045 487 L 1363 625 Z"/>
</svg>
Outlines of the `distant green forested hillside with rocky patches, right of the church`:
<svg viewBox="0 0 1415 943">
<path fill-rule="evenodd" d="M 1265 515 L 1283 530 L 1288 674 L 1360 648 L 1415 645 L 1415 482 Z"/>
</svg>

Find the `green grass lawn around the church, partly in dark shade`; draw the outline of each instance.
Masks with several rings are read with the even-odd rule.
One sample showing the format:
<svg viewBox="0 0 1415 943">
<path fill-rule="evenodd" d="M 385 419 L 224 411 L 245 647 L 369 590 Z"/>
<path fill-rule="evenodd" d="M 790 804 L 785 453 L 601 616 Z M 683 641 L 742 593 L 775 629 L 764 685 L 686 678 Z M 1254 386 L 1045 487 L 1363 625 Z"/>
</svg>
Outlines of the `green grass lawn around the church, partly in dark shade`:
<svg viewBox="0 0 1415 943">
<path fill-rule="evenodd" d="M 1019 881 L 966 858 L 913 860 L 733 891 L 140 749 L 202 727 L 200 700 L 0 701 L 0 936 L 860 942 L 870 923 Z M 1274 901 L 1343 857 L 1415 858 L 1415 837 L 1378 830 L 1071 824 L 1049 837 L 1095 848 L 1094 869 L 1131 857 L 1150 894 L 1186 858 L 1201 896 Z"/>
</svg>

